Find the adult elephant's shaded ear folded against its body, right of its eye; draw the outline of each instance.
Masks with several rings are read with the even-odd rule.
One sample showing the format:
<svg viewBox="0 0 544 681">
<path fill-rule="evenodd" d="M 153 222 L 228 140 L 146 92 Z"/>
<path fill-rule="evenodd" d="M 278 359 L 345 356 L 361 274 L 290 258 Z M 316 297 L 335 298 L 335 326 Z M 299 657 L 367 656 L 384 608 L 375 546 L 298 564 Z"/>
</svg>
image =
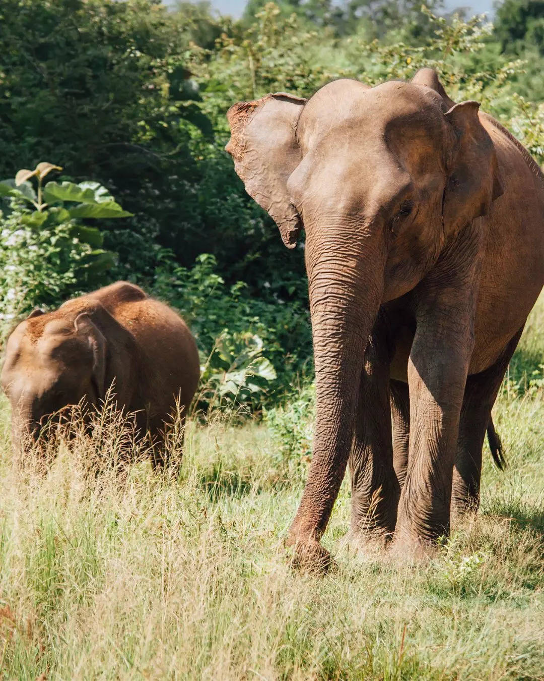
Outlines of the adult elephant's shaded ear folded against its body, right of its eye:
<svg viewBox="0 0 544 681">
<path fill-rule="evenodd" d="M 494 145 L 479 120 L 479 106 L 477 101 L 462 101 L 444 114 L 455 140 L 442 212 L 447 233 L 486 215 L 503 193 Z"/>
</svg>

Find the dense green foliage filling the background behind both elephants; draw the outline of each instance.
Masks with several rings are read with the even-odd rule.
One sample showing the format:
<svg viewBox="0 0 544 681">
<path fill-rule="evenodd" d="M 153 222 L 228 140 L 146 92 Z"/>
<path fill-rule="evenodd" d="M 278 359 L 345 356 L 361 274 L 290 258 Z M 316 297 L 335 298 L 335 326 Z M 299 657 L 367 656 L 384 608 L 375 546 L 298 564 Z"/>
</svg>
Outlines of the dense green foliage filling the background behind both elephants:
<svg viewBox="0 0 544 681">
<path fill-rule="evenodd" d="M 126 210 L 116 221 L 81 217 L 99 237 L 75 244 L 73 226 L 51 208 L 31 242 L 18 229 L 29 206 L 5 198 L 0 260 L 12 283 L 2 295 L 16 300 L 3 314 L 130 279 L 177 306 L 197 333 L 203 406 L 270 407 L 311 379 L 303 243 L 284 249 L 245 194 L 223 151 L 224 114 L 269 91 L 311 95 L 331 78 L 374 84 L 432 66 L 453 99 L 481 101 L 541 163 L 541 0 L 506 0 L 495 27 L 440 9 L 250 0 L 233 21 L 205 3 L 0 0 L 0 179 L 46 158 L 63 166 L 63 182 L 94 180 Z M 101 254 L 107 268 L 92 276 L 89 249 L 113 254 Z M 51 285 L 27 286 L 24 300 L 10 292 L 42 270 Z"/>
</svg>

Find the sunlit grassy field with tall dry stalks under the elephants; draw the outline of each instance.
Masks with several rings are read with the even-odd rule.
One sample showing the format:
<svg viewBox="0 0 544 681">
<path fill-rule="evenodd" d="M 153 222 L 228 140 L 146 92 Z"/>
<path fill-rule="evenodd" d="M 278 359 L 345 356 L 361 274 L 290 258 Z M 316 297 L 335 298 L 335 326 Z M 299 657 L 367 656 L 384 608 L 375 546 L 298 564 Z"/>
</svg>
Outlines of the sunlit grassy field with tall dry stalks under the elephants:
<svg viewBox="0 0 544 681">
<path fill-rule="evenodd" d="M 344 484 L 337 570 L 290 569 L 307 463 L 265 425 L 192 424 L 180 481 L 141 463 L 119 484 L 86 478 L 77 438 L 20 471 L 2 402 L 1 678 L 544 678 L 543 328 L 541 298 L 495 411 L 509 468 L 486 451 L 481 512 L 424 565 L 343 545 Z"/>
</svg>

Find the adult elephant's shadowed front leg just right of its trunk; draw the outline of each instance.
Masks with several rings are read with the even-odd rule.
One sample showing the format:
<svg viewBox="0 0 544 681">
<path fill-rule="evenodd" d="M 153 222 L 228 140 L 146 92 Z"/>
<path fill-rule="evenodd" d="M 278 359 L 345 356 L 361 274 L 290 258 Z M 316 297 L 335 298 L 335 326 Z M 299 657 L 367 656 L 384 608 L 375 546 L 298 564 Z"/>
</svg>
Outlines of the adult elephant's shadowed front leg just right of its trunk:
<svg viewBox="0 0 544 681">
<path fill-rule="evenodd" d="M 389 366 L 372 346 L 362 372 L 354 444 L 350 455 L 352 535 L 390 539 L 400 488 L 393 468 Z"/>
</svg>

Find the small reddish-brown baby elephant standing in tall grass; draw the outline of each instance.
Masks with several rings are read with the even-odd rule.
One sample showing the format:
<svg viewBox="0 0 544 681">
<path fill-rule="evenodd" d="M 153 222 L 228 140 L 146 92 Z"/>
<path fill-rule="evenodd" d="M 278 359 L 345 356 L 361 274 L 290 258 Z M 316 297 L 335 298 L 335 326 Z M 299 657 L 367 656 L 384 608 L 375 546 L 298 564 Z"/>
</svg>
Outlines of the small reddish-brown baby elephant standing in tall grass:
<svg viewBox="0 0 544 681">
<path fill-rule="evenodd" d="M 12 430 L 39 435 L 46 417 L 82 398 L 99 406 L 114 382 L 118 407 L 136 412 L 140 437 L 164 466 L 165 427 L 179 399 L 181 416 L 199 381 L 197 345 L 165 304 L 120 281 L 35 310 L 7 340 L 1 385 L 12 405 Z"/>
</svg>

